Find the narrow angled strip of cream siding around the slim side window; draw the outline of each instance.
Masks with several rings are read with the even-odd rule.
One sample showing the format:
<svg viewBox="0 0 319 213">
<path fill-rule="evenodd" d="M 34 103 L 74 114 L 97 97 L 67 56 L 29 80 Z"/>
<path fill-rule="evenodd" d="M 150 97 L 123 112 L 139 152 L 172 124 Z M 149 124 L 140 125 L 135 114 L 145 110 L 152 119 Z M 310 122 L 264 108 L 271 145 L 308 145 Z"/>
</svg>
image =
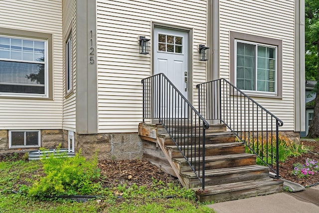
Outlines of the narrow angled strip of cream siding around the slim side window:
<svg viewBox="0 0 319 213">
<path fill-rule="evenodd" d="M 70 95 L 67 95 L 63 99 L 63 129 L 73 131 L 75 132 L 75 121 L 76 121 L 76 116 L 75 116 L 75 94 L 76 94 L 76 63 L 75 63 L 75 58 L 76 58 L 76 18 L 75 18 L 75 8 L 76 8 L 76 1 L 75 0 L 63 0 L 63 44 L 66 44 L 66 39 L 69 36 L 70 33 L 70 28 L 71 28 L 71 36 L 72 36 L 72 47 L 71 49 L 73 50 L 72 52 L 72 67 L 73 67 L 73 76 L 72 76 L 72 83 L 73 83 L 73 93 Z M 65 49 L 66 47 L 63 46 Z M 66 64 L 65 64 L 65 51 L 63 51 L 63 66 L 64 66 L 64 72 L 66 71 Z M 65 73 L 64 73 L 64 79 L 63 79 L 63 94 L 65 94 L 66 91 L 66 83 L 65 83 Z"/>
</svg>

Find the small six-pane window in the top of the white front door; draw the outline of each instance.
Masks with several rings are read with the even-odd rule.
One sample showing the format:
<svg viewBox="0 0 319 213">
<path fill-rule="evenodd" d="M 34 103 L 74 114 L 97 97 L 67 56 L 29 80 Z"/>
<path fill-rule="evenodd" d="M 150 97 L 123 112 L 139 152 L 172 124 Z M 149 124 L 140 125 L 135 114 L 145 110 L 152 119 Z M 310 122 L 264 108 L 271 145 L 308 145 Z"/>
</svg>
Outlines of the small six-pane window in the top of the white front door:
<svg viewBox="0 0 319 213">
<path fill-rule="evenodd" d="M 158 51 L 182 53 L 183 37 L 159 34 Z"/>
</svg>

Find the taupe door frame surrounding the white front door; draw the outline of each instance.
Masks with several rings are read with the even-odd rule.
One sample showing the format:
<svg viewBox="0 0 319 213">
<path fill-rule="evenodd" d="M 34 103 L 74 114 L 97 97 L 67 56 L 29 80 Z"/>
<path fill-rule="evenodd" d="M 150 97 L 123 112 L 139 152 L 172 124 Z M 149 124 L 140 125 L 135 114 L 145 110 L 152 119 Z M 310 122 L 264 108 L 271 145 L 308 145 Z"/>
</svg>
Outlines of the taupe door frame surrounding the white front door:
<svg viewBox="0 0 319 213">
<path fill-rule="evenodd" d="M 156 47 L 153 45 L 155 41 L 155 35 L 154 35 L 154 28 L 160 27 L 160 28 L 167 28 L 167 29 L 173 29 L 173 30 L 179 30 L 179 31 L 185 31 L 188 33 L 188 42 L 187 42 L 187 100 L 193 104 L 193 29 L 189 27 L 183 27 L 173 24 L 165 24 L 160 22 L 152 22 L 152 33 L 151 33 L 151 39 L 152 39 L 152 54 L 151 54 L 151 63 L 152 63 L 152 71 L 151 75 L 154 75 L 154 51 L 156 50 Z"/>
</svg>

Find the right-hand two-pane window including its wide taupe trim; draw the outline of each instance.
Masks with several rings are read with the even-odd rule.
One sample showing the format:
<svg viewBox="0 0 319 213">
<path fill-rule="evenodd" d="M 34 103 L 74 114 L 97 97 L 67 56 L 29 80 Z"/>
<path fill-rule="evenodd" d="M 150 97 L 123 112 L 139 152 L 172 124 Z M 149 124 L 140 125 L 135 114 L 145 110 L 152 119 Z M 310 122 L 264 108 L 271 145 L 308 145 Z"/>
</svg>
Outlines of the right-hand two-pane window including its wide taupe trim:
<svg viewBox="0 0 319 213">
<path fill-rule="evenodd" d="M 282 96 L 282 41 L 231 32 L 231 82 L 251 96 Z"/>
</svg>

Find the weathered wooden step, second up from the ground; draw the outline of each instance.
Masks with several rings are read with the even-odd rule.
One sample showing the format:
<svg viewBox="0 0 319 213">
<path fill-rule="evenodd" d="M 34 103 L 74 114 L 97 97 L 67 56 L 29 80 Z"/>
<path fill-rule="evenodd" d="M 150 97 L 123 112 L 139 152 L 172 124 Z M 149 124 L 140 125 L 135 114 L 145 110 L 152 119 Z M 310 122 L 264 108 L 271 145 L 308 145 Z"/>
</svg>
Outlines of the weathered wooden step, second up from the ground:
<svg viewBox="0 0 319 213">
<path fill-rule="evenodd" d="M 194 172 L 183 172 L 180 174 L 180 176 L 183 177 L 185 183 L 188 185 L 188 188 L 201 187 L 201 183 L 197 179 Z M 202 177 L 201 172 L 199 176 Z M 269 168 L 258 165 L 205 171 L 206 186 L 251 181 L 263 178 L 269 178 Z"/>
</svg>

